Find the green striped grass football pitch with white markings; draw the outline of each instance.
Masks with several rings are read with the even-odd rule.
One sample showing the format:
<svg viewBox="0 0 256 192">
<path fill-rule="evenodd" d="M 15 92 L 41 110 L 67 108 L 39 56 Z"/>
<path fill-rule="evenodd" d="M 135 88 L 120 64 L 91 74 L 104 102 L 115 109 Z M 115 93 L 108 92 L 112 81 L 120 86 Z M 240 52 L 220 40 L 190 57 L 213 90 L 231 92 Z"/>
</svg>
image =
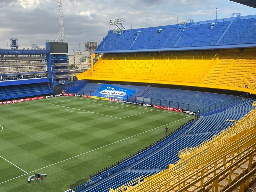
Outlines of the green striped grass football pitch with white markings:
<svg viewBox="0 0 256 192">
<path fill-rule="evenodd" d="M 56 97 L 0 106 L 0 191 L 65 191 L 193 117 L 106 101 Z M 178 155 L 178 154 L 177 154 Z M 27 182 L 34 172 L 42 182 Z"/>
</svg>

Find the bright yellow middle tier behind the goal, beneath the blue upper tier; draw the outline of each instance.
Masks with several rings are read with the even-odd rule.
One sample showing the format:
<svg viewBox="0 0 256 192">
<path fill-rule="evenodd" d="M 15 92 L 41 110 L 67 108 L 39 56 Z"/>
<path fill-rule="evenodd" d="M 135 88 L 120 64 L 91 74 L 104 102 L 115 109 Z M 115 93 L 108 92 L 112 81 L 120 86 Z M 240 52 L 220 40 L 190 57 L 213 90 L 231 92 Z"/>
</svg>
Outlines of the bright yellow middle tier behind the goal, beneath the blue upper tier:
<svg viewBox="0 0 256 192">
<path fill-rule="evenodd" d="M 256 94 L 256 49 L 104 54 L 79 80 L 228 89 Z"/>
</svg>

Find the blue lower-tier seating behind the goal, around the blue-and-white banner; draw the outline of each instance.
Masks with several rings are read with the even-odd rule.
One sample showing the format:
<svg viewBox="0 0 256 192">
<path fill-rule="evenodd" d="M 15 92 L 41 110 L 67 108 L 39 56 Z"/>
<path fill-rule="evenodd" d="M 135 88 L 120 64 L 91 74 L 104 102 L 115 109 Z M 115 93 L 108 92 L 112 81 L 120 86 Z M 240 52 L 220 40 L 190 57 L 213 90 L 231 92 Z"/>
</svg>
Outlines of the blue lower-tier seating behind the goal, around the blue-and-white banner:
<svg viewBox="0 0 256 192">
<path fill-rule="evenodd" d="M 103 84 L 102 83 L 87 83 L 82 89 L 72 90 L 72 92 L 77 94 L 92 94 L 93 92 L 97 91 Z M 135 85 L 115 85 L 123 88 L 128 89 L 135 89 L 136 92 L 134 95 L 138 95 L 139 93 L 143 92 L 146 87 L 144 86 L 135 86 Z M 198 107 L 204 108 L 208 106 L 213 106 L 215 109 L 215 104 L 218 102 L 223 102 L 228 99 L 234 98 L 237 99 L 238 102 L 243 98 L 237 98 L 231 95 L 223 95 L 223 94 L 215 94 L 215 93 L 207 93 L 207 92 L 199 92 L 199 91 L 189 91 L 189 90 L 179 90 L 179 89 L 168 89 L 168 88 L 156 88 L 151 87 L 146 93 L 142 95 L 145 98 L 152 98 L 150 102 L 147 102 L 144 99 L 144 103 L 155 104 L 155 105 L 162 105 L 162 106 L 170 106 L 176 108 L 182 108 L 185 110 L 197 112 Z M 135 98 L 130 97 L 129 101 L 135 101 Z M 161 99 L 161 101 L 160 101 Z M 141 102 L 141 100 L 137 100 L 137 102 Z M 221 106 L 220 106 L 221 107 Z M 208 109 L 207 109 L 208 110 Z M 207 111 L 208 112 L 208 111 Z"/>
</svg>

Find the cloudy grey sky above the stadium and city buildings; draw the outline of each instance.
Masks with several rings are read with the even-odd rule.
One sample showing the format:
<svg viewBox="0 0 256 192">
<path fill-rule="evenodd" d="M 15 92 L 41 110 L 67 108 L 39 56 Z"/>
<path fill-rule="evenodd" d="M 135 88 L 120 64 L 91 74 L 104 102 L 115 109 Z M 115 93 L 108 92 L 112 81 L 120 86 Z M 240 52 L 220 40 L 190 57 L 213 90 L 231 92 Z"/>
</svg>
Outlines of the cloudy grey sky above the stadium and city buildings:
<svg viewBox="0 0 256 192">
<path fill-rule="evenodd" d="M 256 9 L 228 0 L 62 0 L 65 39 L 69 53 L 84 49 L 84 42 L 100 42 L 108 32 L 109 19 L 123 17 L 126 29 L 161 26 L 193 19 L 227 18 L 233 12 L 256 14 Z M 112 26 L 110 26 L 112 29 Z M 18 38 L 19 48 L 33 43 L 44 47 L 59 31 L 57 0 L 0 0 L 0 47 Z"/>
</svg>

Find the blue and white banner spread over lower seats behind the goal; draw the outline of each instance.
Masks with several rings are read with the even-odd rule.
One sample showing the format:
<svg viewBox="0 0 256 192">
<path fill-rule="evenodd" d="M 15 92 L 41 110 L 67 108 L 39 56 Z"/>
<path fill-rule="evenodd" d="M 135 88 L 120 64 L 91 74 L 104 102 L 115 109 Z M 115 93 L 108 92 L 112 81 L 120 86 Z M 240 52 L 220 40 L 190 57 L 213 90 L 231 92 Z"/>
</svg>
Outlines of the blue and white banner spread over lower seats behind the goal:
<svg viewBox="0 0 256 192">
<path fill-rule="evenodd" d="M 108 97 L 108 98 L 123 97 L 124 99 L 128 99 L 135 92 L 136 92 L 135 89 L 126 89 L 123 87 L 104 84 L 100 87 L 100 89 L 94 92 L 92 96 Z"/>
</svg>

